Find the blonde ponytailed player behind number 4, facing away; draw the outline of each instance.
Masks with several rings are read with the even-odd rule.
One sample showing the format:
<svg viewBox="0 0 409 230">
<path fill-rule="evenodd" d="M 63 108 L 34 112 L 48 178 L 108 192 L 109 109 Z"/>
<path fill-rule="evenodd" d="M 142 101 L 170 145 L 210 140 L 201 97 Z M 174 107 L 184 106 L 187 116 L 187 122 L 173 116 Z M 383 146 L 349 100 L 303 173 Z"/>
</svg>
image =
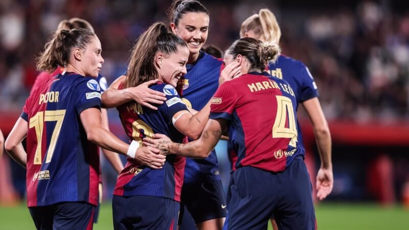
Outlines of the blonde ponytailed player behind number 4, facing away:
<svg viewBox="0 0 409 230">
<path fill-rule="evenodd" d="M 279 43 L 281 30 L 274 14 L 268 9 L 261 9 L 258 14 L 248 17 L 241 24 L 240 37 L 253 37 L 261 41 Z M 318 100 L 318 90 L 308 68 L 298 60 L 281 55 L 277 62 L 268 65 L 271 76 L 286 80 L 297 98 L 296 110 L 302 104 L 314 129 L 321 167 L 316 176 L 317 197 L 323 200 L 333 186 L 331 162 L 331 134 L 323 110 Z M 297 120 L 298 143 L 303 146 L 300 124 Z"/>
</svg>

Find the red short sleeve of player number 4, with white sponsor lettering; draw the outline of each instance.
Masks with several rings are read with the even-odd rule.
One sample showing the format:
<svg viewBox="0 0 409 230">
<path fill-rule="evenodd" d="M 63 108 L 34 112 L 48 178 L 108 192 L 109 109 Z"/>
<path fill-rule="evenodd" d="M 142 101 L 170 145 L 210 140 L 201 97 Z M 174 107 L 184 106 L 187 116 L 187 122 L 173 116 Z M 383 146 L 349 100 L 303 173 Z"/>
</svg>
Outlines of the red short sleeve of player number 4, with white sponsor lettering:
<svg viewBox="0 0 409 230">
<path fill-rule="evenodd" d="M 232 114 L 237 104 L 237 91 L 229 82 L 222 84 L 212 98 L 210 105 L 210 118 L 232 119 Z"/>
</svg>

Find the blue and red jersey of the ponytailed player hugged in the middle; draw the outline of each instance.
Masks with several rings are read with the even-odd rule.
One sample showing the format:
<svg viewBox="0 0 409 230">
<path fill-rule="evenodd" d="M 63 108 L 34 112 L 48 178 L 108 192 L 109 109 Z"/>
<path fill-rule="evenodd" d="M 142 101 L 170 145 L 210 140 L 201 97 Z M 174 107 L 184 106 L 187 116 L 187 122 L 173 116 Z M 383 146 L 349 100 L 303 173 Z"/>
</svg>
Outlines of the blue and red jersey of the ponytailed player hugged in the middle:
<svg viewBox="0 0 409 230">
<path fill-rule="evenodd" d="M 120 89 L 123 88 L 121 83 Z M 130 103 L 118 106 L 122 125 L 130 141 L 140 142 L 144 137 L 152 137 L 154 133 L 165 134 L 173 142 L 183 142 L 185 136 L 172 124 L 173 115 L 178 111 L 188 110 L 177 94 L 176 89 L 168 84 L 156 84 L 149 88 L 163 92 L 167 101 L 152 110 L 139 104 Z M 131 108 L 129 108 L 131 105 Z M 136 160 L 128 158 L 121 172 L 114 195 L 118 196 L 157 196 L 180 201 L 186 159 L 183 156 L 168 155 L 162 169 L 141 166 Z"/>
</svg>

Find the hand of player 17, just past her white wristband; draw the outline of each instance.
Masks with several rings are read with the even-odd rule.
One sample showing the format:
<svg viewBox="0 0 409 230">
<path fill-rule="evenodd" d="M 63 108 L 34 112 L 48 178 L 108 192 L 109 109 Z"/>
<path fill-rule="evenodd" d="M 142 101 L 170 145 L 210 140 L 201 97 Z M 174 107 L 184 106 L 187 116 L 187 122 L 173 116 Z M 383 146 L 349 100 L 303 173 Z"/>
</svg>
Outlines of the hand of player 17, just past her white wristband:
<svg viewBox="0 0 409 230">
<path fill-rule="evenodd" d="M 146 165 L 152 169 L 162 169 L 166 162 L 166 156 L 160 155 L 159 150 L 152 147 L 138 148 L 135 154 L 138 164 Z"/>
</svg>

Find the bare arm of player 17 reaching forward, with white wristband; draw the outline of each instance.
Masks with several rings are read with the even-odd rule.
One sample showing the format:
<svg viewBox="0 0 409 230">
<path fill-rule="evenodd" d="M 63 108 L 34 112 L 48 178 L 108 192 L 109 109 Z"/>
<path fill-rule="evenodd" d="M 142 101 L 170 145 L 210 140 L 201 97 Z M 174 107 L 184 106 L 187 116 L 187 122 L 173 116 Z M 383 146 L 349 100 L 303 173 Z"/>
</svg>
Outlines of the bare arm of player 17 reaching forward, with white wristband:
<svg viewBox="0 0 409 230">
<path fill-rule="evenodd" d="M 129 145 L 101 126 L 101 111 L 98 108 L 92 107 L 83 110 L 80 113 L 80 119 L 88 141 L 104 149 L 127 155 Z M 152 147 L 141 147 L 135 152 L 134 159 L 138 160 L 140 164 L 153 169 L 160 169 L 165 164 L 166 157 L 158 153 L 159 151 Z"/>
</svg>

